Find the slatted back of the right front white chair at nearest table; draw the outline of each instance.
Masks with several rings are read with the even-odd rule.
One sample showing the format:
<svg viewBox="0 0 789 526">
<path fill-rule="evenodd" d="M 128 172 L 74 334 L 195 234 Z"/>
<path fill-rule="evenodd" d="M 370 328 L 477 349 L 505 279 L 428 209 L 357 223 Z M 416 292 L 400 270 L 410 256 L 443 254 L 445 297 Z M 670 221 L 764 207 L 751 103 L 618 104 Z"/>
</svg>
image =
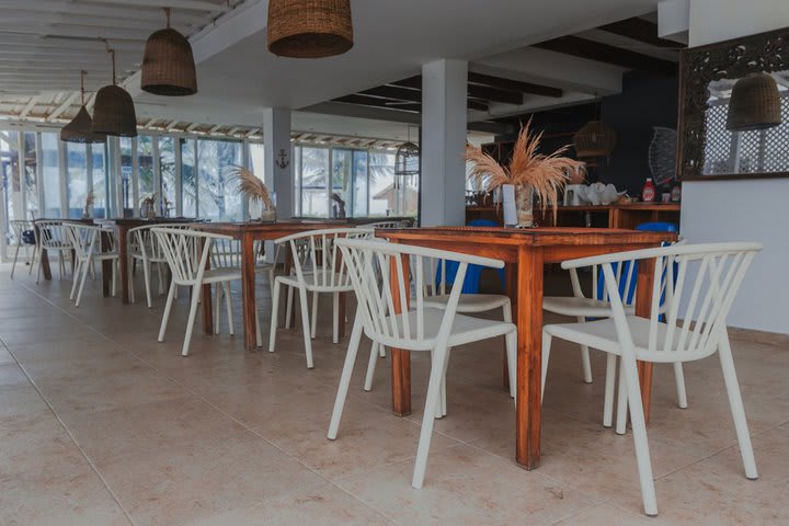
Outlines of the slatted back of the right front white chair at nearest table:
<svg viewBox="0 0 789 526">
<path fill-rule="evenodd" d="M 654 260 L 649 338 L 645 351 L 638 357 L 676 363 L 701 359 L 718 350 L 725 338 L 725 320 L 734 297 L 761 250 L 758 243 L 675 244 L 574 260 L 567 262 L 567 267 L 583 263 L 602 266 L 619 340 L 632 341 L 625 304 L 615 285 L 614 265 Z M 661 279 L 664 274 L 667 279 Z M 674 286 L 667 287 L 667 283 Z"/>
</svg>

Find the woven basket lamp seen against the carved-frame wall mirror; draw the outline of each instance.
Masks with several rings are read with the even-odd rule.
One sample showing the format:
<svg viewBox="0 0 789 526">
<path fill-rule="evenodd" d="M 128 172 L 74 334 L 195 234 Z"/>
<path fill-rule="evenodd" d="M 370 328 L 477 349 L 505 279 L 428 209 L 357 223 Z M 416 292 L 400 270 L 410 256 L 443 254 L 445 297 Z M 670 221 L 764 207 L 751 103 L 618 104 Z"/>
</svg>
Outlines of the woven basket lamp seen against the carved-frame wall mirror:
<svg viewBox="0 0 789 526">
<path fill-rule="evenodd" d="M 780 95 L 775 79 L 767 73 L 751 73 L 737 80 L 729 101 L 727 129 L 750 132 L 779 124 Z"/>
</svg>

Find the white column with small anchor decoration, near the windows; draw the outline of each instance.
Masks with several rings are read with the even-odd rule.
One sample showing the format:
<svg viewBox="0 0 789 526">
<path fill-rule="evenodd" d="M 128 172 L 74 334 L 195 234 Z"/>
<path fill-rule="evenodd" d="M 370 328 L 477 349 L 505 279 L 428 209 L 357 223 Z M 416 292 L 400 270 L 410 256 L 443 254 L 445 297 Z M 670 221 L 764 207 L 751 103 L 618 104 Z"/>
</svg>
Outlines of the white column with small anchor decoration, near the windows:
<svg viewBox="0 0 789 526">
<path fill-rule="evenodd" d="M 263 111 L 263 179 L 277 195 L 277 218 L 293 217 L 294 164 L 290 146 L 290 110 L 270 107 Z M 284 155 L 284 157 L 283 157 Z M 287 164 L 282 168 L 279 164 Z"/>
</svg>

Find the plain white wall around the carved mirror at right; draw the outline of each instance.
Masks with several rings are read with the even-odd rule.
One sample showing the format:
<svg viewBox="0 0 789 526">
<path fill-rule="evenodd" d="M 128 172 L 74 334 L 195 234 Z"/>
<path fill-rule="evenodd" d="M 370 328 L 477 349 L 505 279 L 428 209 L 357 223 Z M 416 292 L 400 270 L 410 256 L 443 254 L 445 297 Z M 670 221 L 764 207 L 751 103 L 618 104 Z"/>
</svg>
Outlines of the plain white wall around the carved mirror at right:
<svg viewBox="0 0 789 526">
<path fill-rule="evenodd" d="M 690 46 L 789 26 L 787 0 L 690 0 Z M 789 179 L 683 183 L 690 242 L 761 241 L 731 327 L 789 333 Z"/>
</svg>

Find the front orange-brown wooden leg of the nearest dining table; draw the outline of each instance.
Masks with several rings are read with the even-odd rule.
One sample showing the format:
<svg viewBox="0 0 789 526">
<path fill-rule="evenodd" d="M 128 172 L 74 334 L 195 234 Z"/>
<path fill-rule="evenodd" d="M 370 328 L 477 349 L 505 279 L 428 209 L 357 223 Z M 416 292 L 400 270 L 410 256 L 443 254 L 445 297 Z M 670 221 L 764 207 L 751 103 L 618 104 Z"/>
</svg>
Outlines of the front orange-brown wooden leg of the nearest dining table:
<svg viewBox="0 0 789 526">
<path fill-rule="evenodd" d="M 517 410 L 515 459 L 526 469 L 539 466 L 542 425 L 542 250 L 518 248 Z"/>
</svg>

